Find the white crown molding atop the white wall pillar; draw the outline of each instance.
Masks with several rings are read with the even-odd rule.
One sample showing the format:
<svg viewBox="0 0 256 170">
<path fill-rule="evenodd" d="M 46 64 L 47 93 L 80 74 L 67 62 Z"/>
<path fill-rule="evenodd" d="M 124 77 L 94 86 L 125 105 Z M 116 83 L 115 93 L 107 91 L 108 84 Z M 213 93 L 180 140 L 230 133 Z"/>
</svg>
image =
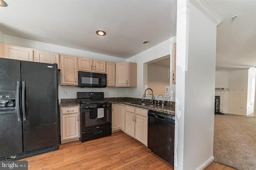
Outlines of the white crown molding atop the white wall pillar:
<svg viewBox="0 0 256 170">
<path fill-rule="evenodd" d="M 218 26 L 222 20 L 206 5 L 203 0 L 189 0 L 198 10 L 200 10 L 207 18 L 209 18 L 216 26 Z"/>
</svg>

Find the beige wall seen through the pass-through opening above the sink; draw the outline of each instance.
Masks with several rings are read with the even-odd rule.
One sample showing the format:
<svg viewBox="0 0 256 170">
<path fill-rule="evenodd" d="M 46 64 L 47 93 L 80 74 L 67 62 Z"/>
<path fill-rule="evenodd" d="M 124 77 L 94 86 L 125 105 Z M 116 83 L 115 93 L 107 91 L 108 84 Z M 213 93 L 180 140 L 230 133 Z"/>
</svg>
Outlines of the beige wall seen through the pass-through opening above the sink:
<svg viewBox="0 0 256 170">
<path fill-rule="evenodd" d="M 165 95 L 165 86 L 170 86 L 170 68 L 148 65 L 148 88 L 154 95 Z"/>
</svg>

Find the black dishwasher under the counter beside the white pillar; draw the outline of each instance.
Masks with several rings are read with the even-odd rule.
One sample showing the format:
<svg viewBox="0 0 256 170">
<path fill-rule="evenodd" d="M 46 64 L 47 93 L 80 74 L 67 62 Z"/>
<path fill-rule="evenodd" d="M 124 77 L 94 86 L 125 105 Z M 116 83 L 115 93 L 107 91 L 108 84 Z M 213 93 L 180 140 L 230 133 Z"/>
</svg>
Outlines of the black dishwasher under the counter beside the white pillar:
<svg viewBox="0 0 256 170">
<path fill-rule="evenodd" d="M 148 148 L 174 164 L 175 115 L 148 111 Z"/>
</svg>

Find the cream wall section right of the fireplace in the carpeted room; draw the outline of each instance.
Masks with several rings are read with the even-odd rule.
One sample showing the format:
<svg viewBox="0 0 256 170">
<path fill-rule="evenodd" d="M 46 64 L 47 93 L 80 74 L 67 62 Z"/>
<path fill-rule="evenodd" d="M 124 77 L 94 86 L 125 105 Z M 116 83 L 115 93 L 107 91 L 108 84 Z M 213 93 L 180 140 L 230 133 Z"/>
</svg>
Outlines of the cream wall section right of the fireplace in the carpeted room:
<svg viewBox="0 0 256 170">
<path fill-rule="evenodd" d="M 228 113 L 246 115 L 248 68 L 228 73 Z"/>
</svg>

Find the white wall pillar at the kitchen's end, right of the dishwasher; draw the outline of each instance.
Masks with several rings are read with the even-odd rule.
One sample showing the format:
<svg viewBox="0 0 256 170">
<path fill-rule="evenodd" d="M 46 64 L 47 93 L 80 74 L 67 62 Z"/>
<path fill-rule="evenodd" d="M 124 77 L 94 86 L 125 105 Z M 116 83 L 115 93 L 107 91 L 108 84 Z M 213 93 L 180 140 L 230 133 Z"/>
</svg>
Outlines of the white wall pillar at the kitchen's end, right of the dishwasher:
<svg viewBox="0 0 256 170">
<path fill-rule="evenodd" d="M 190 1 L 177 1 L 174 169 L 213 160 L 216 25 Z"/>
</svg>

